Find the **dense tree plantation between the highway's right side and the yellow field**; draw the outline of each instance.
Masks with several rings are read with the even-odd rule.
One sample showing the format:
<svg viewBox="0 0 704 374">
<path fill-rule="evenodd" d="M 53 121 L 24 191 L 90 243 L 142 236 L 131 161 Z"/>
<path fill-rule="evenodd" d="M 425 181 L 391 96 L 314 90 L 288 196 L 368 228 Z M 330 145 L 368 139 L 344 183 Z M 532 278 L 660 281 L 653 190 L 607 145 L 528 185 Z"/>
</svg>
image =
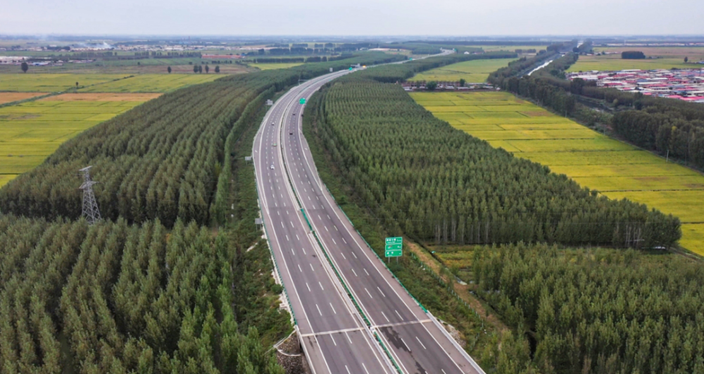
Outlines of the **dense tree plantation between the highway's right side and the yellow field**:
<svg viewBox="0 0 704 374">
<path fill-rule="evenodd" d="M 345 77 L 312 104 L 327 151 L 379 220 L 436 243 L 672 246 L 677 218 L 579 187 L 432 116 L 398 85 Z"/>
</svg>

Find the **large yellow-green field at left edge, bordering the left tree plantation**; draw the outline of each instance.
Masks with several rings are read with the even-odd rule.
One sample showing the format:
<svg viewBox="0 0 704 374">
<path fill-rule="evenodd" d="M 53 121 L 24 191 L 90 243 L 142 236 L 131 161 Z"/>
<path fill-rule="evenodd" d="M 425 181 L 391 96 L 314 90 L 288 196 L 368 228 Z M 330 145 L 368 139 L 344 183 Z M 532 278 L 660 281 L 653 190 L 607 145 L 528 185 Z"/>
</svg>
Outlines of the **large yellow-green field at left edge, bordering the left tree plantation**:
<svg viewBox="0 0 704 374">
<path fill-rule="evenodd" d="M 0 108 L 0 187 L 61 143 L 158 94 L 61 94 Z"/>
</svg>

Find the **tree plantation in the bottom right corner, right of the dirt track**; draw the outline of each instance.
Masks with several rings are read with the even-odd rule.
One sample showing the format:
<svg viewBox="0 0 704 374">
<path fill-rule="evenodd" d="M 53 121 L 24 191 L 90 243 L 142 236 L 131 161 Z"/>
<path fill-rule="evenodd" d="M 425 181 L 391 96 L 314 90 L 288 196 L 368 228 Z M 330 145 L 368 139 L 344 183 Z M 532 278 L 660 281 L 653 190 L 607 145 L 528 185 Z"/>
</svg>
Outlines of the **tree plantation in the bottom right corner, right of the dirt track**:
<svg viewBox="0 0 704 374">
<path fill-rule="evenodd" d="M 479 295 L 536 339 L 526 373 L 704 373 L 704 271 L 660 257 L 518 244 L 472 264 Z"/>
</svg>

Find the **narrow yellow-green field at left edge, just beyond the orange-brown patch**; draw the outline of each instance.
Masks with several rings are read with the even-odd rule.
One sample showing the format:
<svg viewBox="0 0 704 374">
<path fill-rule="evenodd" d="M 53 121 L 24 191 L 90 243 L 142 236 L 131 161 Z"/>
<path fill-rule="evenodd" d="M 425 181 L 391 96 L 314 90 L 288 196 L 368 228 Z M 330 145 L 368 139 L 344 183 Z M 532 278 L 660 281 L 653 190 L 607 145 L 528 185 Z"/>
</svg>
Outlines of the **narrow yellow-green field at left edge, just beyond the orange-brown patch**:
<svg viewBox="0 0 704 374">
<path fill-rule="evenodd" d="M 122 74 L 0 74 L 0 91 L 59 92 L 80 86 L 99 85 L 126 77 Z"/>
</svg>

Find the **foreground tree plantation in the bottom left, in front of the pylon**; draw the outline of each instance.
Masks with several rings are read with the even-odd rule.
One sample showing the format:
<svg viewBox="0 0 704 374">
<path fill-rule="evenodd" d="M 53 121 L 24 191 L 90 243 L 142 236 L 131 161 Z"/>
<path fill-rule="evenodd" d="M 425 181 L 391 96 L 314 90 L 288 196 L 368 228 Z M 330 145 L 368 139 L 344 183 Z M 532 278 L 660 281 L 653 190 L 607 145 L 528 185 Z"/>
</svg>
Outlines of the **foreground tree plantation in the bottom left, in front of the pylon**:
<svg viewBox="0 0 704 374">
<path fill-rule="evenodd" d="M 0 243 L 3 373 L 283 373 L 238 326 L 225 235 L 2 216 Z"/>
</svg>

